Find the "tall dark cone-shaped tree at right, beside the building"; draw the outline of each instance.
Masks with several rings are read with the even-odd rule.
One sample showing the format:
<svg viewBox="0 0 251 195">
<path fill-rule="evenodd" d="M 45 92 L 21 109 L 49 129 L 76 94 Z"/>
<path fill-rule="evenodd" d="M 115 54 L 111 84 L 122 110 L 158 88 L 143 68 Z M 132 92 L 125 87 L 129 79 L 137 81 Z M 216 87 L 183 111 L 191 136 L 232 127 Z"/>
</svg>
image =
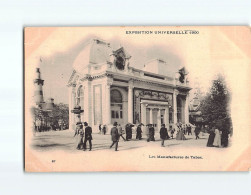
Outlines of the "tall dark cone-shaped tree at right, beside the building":
<svg viewBox="0 0 251 195">
<path fill-rule="evenodd" d="M 231 131 L 230 96 L 225 79 L 219 74 L 217 79 L 213 80 L 210 91 L 201 101 L 200 110 L 205 123 L 215 125 L 220 129 L 227 128 Z"/>
</svg>

